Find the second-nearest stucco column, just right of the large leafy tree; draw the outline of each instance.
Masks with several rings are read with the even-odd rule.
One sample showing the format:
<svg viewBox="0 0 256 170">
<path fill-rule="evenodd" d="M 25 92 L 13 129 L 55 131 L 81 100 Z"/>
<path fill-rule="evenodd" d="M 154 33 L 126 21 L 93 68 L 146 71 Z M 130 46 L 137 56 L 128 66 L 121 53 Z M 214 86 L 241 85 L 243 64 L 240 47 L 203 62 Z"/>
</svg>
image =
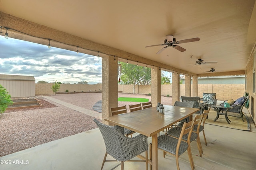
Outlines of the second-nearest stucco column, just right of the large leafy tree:
<svg viewBox="0 0 256 170">
<path fill-rule="evenodd" d="M 153 107 L 161 102 L 161 70 L 158 68 L 151 68 L 151 102 Z"/>
</svg>

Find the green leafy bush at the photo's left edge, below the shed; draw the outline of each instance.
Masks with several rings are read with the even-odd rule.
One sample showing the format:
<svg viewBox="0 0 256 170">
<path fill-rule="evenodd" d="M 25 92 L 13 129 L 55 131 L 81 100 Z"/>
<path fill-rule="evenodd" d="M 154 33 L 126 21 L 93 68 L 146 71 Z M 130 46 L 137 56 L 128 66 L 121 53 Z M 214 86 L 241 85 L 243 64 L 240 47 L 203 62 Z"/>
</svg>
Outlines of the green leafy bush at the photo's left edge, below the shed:
<svg viewBox="0 0 256 170">
<path fill-rule="evenodd" d="M 11 95 L 0 84 L 0 113 L 4 113 L 6 108 L 12 104 Z"/>
</svg>

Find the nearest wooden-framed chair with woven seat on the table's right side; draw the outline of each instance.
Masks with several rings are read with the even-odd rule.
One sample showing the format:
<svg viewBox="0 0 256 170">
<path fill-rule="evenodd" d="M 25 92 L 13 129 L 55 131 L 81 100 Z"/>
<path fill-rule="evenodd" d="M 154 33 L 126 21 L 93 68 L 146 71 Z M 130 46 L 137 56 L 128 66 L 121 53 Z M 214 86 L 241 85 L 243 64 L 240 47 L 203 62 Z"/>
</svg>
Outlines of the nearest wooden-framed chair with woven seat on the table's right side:
<svg viewBox="0 0 256 170">
<path fill-rule="evenodd" d="M 188 143 L 190 143 L 193 126 L 194 126 L 194 119 L 188 123 L 185 122 L 184 126 L 182 127 L 180 137 L 178 139 L 171 137 L 169 135 L 161 135 L 157 139 L 158 149 L 164 151 L 163 152 L 164 158 L 165 158 L 166 152 L 175 156 L 177 170 L 180 170 L 178 158 L 180 157 L 181 154 L 186 152 L 186 150 L 188 150 L 188 158 L 190 160 L 191 169 L 192 170 L 194 169 L 194 162 L 193 162 L 193 158 L 192 158 L 192 154 L 191 154 L 191 148 L 190 148 L 190 145 L 188 145 Z M 184 135 L 187 135 L 187 141 L 184 141 L 182 139 L 182 137 Z M 150 143 L 149 148 L 150 148 L 150 159 L 151 159 L 152 158 L 152 152 L 151 152 L 152 143 Z"/>
</svg>

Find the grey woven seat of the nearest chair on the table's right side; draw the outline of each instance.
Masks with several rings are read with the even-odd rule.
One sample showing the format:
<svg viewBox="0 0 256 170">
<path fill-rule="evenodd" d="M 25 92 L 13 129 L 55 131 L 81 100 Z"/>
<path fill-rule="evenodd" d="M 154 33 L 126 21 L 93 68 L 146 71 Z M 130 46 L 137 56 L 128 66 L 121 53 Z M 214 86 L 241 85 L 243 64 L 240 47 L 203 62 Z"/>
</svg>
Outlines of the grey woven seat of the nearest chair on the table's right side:
<svg viewBox="0 0 256 170">
<path fill-rule="evenodd" d="M 166 152 L 176 154 L 178 139 L 170 137 L 168 135 L 161 135 L 157 139 L 158 148 L 165 150 Z M 178 155 L 180 156 L 188 149 L 188 143 L 181 141 Z"/>
</svg>

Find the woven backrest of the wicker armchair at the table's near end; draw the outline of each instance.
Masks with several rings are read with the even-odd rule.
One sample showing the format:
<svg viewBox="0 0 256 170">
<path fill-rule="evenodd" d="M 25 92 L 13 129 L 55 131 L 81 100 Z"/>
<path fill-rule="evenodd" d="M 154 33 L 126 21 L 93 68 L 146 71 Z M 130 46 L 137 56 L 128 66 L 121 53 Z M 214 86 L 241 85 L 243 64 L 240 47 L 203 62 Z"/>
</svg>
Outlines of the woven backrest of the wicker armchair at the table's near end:
<svg viewBox="0 0 256 170">
<path fill-rule="evenodd" d="M 105 125 L 95 118 L 93 119 L 93 121 L 97 124 L 98 128 L 100 129 L 106 146 L 106 152 L 108 152 L 108 154 L 110 154 L 116 160 L 125 159 L 123 157 L 124 153 L 122 146 L 120 145 L 122 140 L 124 140 L 125 138 L 125 136 L 121 132 L 121 129 L 119 129 L 122 127 Z"/>
</svg>

